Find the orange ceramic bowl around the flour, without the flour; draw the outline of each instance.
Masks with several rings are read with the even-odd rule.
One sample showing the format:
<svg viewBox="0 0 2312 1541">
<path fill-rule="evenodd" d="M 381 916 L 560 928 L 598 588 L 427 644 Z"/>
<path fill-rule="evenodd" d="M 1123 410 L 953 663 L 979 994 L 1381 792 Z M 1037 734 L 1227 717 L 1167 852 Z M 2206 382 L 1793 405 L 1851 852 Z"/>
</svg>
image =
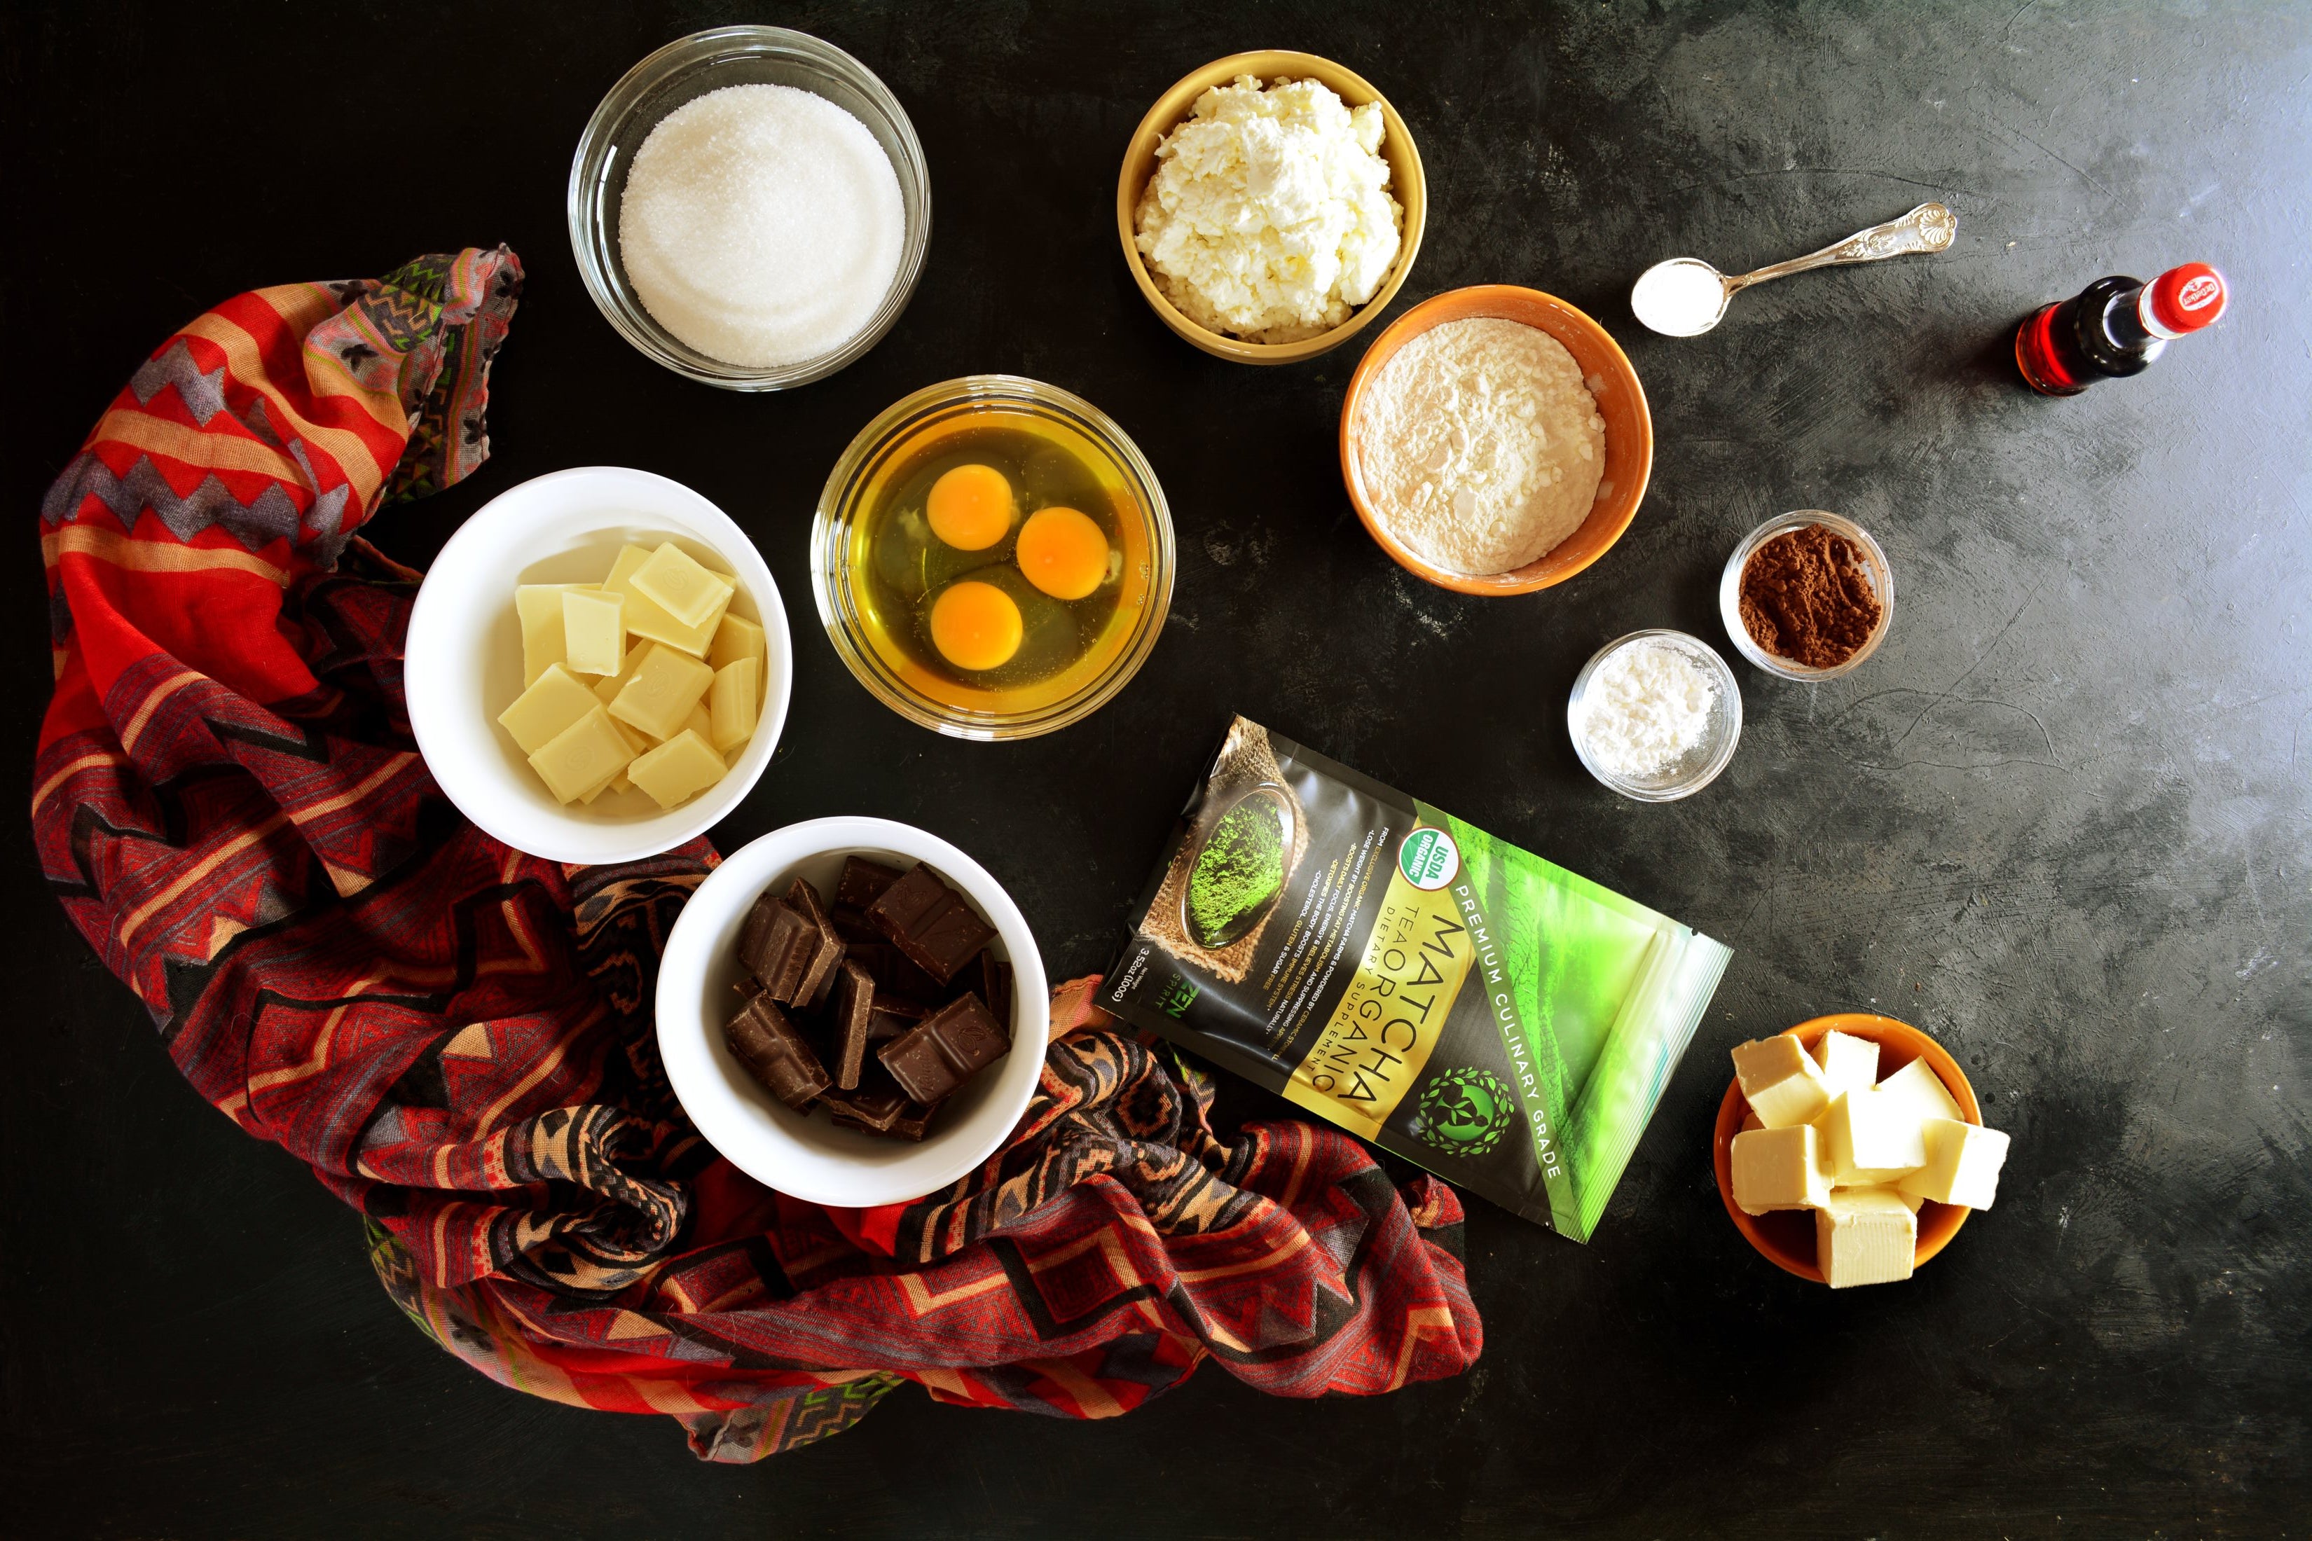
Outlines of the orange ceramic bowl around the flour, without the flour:
<svg viewBox="0 0 2312 1541">
<path fill-rule="evenodd" d="M 1373 515 L 1357 455 L 1359 414 L 1373 379 L 1390 358 L 1429 328 L 1473 317 L 1519 321 L 1556 337 L 1581 365 L 1581 384 L 1588 386 L 1598 400 L 1598 416 L 1605 418 L 1605 474 L 1598 481 L 1598 499 L 1591 504 L 1588 518 L 1551 550 L 1507 573 L 1454 573 L 1413 554 Z M 1422 300 L 1396 317 L 1373 340 L 1373 347 L 1364 349 L 1357 372 L 1348 379 L 1348 400 L 1341 402 L 1341 481 L 1348 483 L 1348 501 L 1355 504 L 1366 534 L 1401 568 L 1457 594 L 1533 594 L 1565 582 L 1605 557 L 1614 541 L 1621 541 L 1621 531 L 1630 529 L 1637 504 L 1646 497 L 1648 476 L 1653 476 L 1653 414 L 1646 411 L 1646 390 L 1637 384 L 1637 370 L 1630 367 L 1621 344 L 1586 312 L 1540 289 L 1477 284 Z"/>
</svg>

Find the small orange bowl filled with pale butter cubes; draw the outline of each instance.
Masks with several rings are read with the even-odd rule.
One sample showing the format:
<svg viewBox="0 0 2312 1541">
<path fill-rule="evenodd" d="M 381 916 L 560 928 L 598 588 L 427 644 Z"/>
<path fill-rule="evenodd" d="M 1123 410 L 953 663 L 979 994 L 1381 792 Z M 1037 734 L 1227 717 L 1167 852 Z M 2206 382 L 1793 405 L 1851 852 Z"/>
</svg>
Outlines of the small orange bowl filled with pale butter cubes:
<svg viewBox="0 0 2312 1541">
<path fill-rule="evenodd" d="M 1910 1278 L 1991 1206 L 2007 1137 L 1984 1127 L 1968 1074 L 1919 1028 L 1815 1017 L 1741 1044 L 1734 1063 L 1718 1194 L 1785 1273 L 1833 1289 Z"/>
</svg>

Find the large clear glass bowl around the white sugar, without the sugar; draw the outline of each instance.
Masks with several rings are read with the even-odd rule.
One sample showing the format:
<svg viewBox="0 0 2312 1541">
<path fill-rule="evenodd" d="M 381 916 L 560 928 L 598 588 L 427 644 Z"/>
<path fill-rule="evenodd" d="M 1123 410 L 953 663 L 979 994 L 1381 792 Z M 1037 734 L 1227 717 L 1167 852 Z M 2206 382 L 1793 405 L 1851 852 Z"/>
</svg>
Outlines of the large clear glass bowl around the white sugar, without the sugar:
<svg viewBox="0 0 2312 1541">
<path fill-rule="evenodd" d="M 724 363 L 677 340 L 659 326 L 617 256 L 617 210 L 627 196 L 627 166 L 650 132 L 670 111 L 724 85 L 793 85 L 825 97 L 876 136 L 899 173 L 906 233 L 899 273 L 874 319 L 832 353 L 793 365 L 749 367 Z M 872 349 L 890 330 L 922 277 L 922 254 L 932 243 L 932 173 L 922 162 L 916 125 L 899 99 L 835 44 L 786 28 L 714 28 L 666 44 L 610 88 L 578 136 L 569 185 L 571 252 L 594 305 L 617 333 L 675 374 L 689 374 L 724 390 L 786 390 L 825 374 Z"/>
</svg>

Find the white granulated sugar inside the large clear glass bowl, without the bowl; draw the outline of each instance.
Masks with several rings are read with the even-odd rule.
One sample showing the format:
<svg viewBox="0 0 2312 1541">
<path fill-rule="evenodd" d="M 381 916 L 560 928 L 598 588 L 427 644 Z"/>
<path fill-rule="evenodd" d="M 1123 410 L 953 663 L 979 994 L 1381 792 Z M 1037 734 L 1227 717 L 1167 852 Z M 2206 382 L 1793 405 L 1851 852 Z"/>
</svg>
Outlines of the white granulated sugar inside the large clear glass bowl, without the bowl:
<svg viewBox="0 0 2312 1541">
<path fill-rule="evenodd" d="M 620 261 L 643 307 L 742 367 L 851 342 L 899 273 L 906 206 L 867 125 L 793 85 L 724 85 L 633 155 Z"/>
</svg>

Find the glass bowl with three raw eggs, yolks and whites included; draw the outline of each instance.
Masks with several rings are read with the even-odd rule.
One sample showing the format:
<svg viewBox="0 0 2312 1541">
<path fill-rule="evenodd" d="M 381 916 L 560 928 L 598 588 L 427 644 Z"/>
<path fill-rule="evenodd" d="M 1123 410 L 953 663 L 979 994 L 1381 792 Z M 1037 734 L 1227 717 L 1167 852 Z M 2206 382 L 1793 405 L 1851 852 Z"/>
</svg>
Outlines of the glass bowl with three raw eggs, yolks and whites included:
<svg viewBox="0 0 2312 1541">
<path fill-rule="evenodd" d="M 812 522 L 835 652 L 899 716 L 1029 739 L 1098 712 L 1172 605 L 1172 511 L 1091 402 L 966 374 L 895 402 L 835 462 Z"/>
</svg>

